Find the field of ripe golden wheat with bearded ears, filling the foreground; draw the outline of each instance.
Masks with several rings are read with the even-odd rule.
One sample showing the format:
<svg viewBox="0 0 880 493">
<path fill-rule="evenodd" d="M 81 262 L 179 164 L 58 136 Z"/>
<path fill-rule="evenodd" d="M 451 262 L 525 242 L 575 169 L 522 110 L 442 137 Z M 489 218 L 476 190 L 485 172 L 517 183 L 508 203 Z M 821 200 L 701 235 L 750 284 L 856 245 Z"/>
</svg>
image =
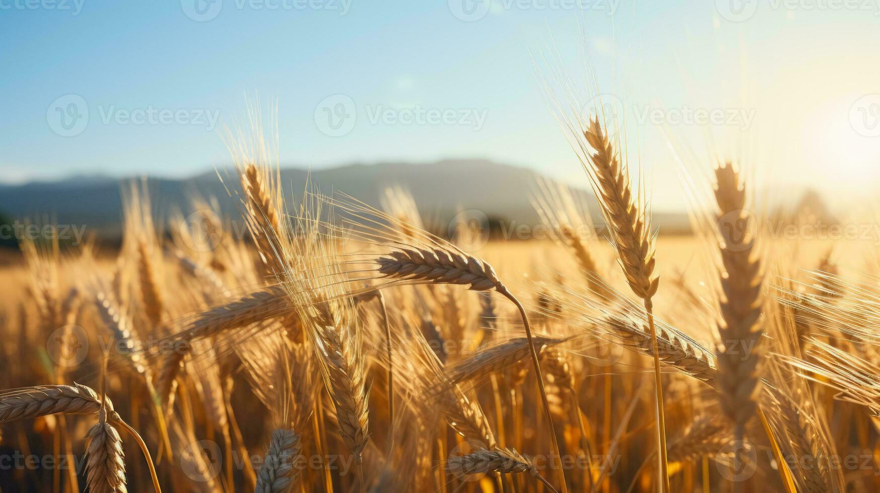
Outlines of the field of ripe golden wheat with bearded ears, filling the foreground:
<svg viewBox="0 0 880 493">
<path fill-rule="evenodd" d="M 444 238 L 392 184 L 285 199 L 233 150 L 246 234 L 196 199 L 158 224 L 133 183 L 118 251 L 22 241 L 0 487 L 876 491 L 876 247 L 774 237 L 724 161 L 658 237 L 617 143 L 576 134 L 598 199 L 539 183 L 545 240 Z"/>
</svg>

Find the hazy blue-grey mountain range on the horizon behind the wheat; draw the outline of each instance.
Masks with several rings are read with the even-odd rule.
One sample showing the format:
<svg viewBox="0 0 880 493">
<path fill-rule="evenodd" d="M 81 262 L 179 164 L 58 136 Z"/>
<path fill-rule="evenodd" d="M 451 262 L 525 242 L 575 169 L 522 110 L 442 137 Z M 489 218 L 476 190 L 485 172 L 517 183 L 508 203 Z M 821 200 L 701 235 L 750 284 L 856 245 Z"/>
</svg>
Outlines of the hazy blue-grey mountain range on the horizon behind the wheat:
<svg viewBox="0 0 880 493">
<path fill-rule="evenodd" d="M 227 180 L 223 170 L 220 171 Z M 532 170 L 508 166 L 484 159 L 443 160 L 429 164 L 382 162 L 372 165 L 355 164 L 330 169 L 312 170 L 282 167 L 281 181 L 285 195 L 299 197 L 305 183 L 312 182 L 325 194 L 342 191 L 378 206 L 385 187 L 407 188 L 429 224 L 437 224 L 454 216 L 458 210 L 480 210 L 487 217 L 508 224 L 537 224 L 539 217 L 532 209 L 537 175 Z M 120 231 L 122 217 L 121 190 L 130 179 L 100 176 L 77 176 L 52 182 L 24 185 L 0 185 L 0 211 L 15 219 L 37 219 L 56 224 L 86 225 L 89 230 L 105 235 Z M 234 177 L 230 187 L 237 183 Z M 214 171 L 188 180 L 148 180 L 153 208 L 158 217 L 167 217 L 172 210 L 190 210 L 190 197 L 216 197 L 224 214 L 238 217 L 237 200 L 231 198 Z M 594 208 L 592 194 L 583 190 L 583 198 Z M 656 215 L 655 224 L 664 232 L 687 228 L 685 215 Z"/>
</svg>

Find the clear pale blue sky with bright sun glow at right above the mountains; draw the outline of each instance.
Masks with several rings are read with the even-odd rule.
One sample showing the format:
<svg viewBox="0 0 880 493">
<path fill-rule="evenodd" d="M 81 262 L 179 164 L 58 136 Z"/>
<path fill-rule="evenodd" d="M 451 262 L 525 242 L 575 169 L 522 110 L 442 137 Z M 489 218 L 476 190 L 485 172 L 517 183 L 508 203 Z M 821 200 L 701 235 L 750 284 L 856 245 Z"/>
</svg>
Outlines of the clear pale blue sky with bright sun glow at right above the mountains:
<svg viewBox="0 0 880 493">
<path fill-rule="evenodd" d="M 493 158 L 586 183 L 532 57 L 579 75 L 587 48 L 656 209 L 684 204 L 670 149 L 873 194 L 878 1 L 0 0 L 0 180 L 201 173 L 259 95 L 284 164 Z"/>
</svg>

